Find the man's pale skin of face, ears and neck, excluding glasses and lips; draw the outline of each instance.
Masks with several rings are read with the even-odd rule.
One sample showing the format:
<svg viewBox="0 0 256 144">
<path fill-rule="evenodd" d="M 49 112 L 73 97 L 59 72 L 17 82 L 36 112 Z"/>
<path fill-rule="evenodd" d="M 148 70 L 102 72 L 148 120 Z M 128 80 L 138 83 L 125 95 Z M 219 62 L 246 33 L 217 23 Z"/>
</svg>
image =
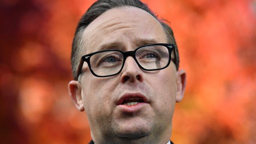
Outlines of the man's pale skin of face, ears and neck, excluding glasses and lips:
<svg viewBox="0 0 256 144">
<path fill-rule="evenodd" d="M 146 11 L 121 7 L 106 11 L 83 32 L 89 54 L 106 48 L 134 50 L 151 43 L 167 43 L 161 24 Z M 85 111 L 96 144 L 166 144 L 171 136 L 173 111 L 186 86 L 184 70 L 173 62 L 157 71 L 144 71 L 132 57 L 116 76 L 98 78 L 86 63 L 79 81 L 69 82 L 69 94 L 76 107 Z M 125 113 L 117 102 L 124 94 L 143 94 L 148 103 Z"/>
</svg>

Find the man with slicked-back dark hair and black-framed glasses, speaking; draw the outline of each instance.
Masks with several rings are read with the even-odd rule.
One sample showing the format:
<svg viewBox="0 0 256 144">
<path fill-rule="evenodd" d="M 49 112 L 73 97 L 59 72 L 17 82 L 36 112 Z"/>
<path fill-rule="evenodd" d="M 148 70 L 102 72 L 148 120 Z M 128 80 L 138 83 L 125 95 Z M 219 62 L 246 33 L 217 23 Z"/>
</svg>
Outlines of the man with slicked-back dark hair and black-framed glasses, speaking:
<svg viewBox="0 0 256 144">
<path fill-rule="evenodd" d="M 173 32 L 139 0 L 99 0 L 72 45 L 69 94 L 87 114 L 91 144 L 171 144 L 178 70 Z"/>
</svg>

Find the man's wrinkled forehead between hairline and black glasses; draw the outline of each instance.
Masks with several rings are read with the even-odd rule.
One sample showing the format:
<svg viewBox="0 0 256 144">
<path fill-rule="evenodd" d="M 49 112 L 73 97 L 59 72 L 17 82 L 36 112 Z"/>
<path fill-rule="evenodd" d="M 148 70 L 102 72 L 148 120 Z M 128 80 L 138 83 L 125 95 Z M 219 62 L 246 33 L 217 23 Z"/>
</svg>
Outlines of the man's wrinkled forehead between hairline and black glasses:
<svg viewBox="0 0 256 144">
<path fill-rule="evenodd" d="M 123 49 L 136 48 L 143 42 L 166 42 L 165 32 L 158 20 L 137 7 L 119 7 L 102 13 L 83 31 L 83 54 L 99 50 L 104 44 L 119 44 Z"/>
</svg>

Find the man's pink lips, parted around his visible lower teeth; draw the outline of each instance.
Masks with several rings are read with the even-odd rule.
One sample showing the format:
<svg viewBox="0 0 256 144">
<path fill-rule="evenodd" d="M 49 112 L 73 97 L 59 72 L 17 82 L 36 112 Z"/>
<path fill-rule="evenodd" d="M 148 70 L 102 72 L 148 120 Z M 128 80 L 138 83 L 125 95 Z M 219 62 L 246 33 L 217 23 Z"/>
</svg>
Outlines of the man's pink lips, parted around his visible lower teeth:
<svg viewBox="0 0 256 144">
<path fill-rule="evenodd" d="M 143 100 L 144 102 L 140 102 L 135 105 L 122 105 L 124 100 L 129 99 L 129 98 L 139 98 L 139 99 Z M 144 106 L 146 106 L 148 104 L 149 104 L 148 99 L 146 98 L 146 96 L 144 96 L 141 93 L 126 93 L 126 94 L 122 95 L 122 97 L 117 102 L 117 106 L 124 113 L 135 113 L 136 111 L 139 111 L 140 109 L 142 109 Z"/>
</svg>

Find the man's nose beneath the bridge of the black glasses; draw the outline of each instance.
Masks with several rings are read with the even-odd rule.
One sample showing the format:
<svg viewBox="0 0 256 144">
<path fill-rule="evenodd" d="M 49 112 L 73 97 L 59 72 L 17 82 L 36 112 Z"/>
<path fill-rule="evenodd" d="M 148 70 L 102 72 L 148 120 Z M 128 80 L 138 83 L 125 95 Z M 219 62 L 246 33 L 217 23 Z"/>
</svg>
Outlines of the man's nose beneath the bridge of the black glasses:
<svg viewBox="0 0 256 144">
<path fill-rule="evenodd" d="M 126 81 L 143 81 L 143 72 L 131 56 L 126 58 L 121 71 L 121 82 L 125 83 Z"/>
</svg>

